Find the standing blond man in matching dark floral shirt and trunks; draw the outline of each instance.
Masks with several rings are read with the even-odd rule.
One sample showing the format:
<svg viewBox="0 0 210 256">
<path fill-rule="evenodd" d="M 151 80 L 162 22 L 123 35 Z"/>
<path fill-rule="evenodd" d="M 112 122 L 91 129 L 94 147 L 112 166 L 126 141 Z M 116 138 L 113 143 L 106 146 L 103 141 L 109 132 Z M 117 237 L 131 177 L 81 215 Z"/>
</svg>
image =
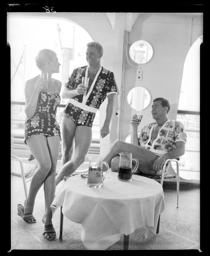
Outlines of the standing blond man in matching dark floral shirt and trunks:
<svg viewBox="0 0 210 256">
<path fill-rule="evenodd" d="M 100 130 L 102 138 L 110 132 L 109 125 L 113 114 L 117 86 L 113 72 L 100 65 L 103 47 L 100 43 L 87 44 L 86 59 L 89 65 L 73 70 L 61 95 L 69 99 L 63 111 L 61 138 L 63 142 L 62 169 L 56 176 L 56 186 L 84 162 L 92 141 L 92 123 L 100 105 L 108 98 L 106 117 Z M 82 77 L 89 78 L 87 88 Z M 75 150 L 73 147 L 75 140 Z M 73 156 L 72 156 L 73 155 Z"/>
</svg>

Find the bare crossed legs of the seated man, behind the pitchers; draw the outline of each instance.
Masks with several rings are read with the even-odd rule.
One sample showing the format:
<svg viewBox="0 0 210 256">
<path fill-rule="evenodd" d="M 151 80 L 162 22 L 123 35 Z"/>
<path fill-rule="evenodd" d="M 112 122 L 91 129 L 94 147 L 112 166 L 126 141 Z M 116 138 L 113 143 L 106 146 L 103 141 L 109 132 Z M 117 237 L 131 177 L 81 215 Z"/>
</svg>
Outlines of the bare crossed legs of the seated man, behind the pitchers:
<svg viewBox="0 0 210 256">
<path fill-rule="evenodd" d="M 157 159 L 155 153 L 141 146 L 136 146 L 124 141 L 117 141 L 103 159 L 110 167 L 113 167 L 113 171 L 118 171 L 119 153 L 121 152 L 132 153 L 132 157 L 139 160 L 138 169 L 144 174 L 154 175 L 156 173 L 156 171 L 152 169 L 153 163 Z"/>
</svg>

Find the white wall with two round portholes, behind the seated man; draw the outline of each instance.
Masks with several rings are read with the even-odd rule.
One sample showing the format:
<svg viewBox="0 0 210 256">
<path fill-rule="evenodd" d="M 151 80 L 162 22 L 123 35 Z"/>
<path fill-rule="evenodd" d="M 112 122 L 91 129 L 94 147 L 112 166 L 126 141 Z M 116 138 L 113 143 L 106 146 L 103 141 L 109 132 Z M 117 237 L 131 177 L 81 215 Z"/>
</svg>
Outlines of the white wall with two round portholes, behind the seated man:
<svg viewBox="0 0 210 256">
<path fill-rule="evenodd" d="M 129 67 L 125 71 L 125 94 L 135 86 L 143 86 L 156 97 L 164 97 L 171 103 L 168 114 L 170 119 L 176 119 L 179 94 L 181 89 L 182 73 L 186 54 L 194 41 L 202 35 L 202 18 L 192 20 L 190 16 L 166 16 L 159 14 L 142 14 L 131 32 L 128 40 L 146 40 L 154 48 L 152 60 L 140 65 L 143 71 L 143 80 L 135 84 L 136 68 Z M 131 61 L 131 59 L 129 59 Z M 133 65 L 136 65 L 131 61 Z M 123 101 L 125 119 L 135 111 L 128 105 L 126 97 Z M 151 105 L 142 111 L 143 119 L 139 131 L 145 124 L 153 121 Z M 129 122 L 123 124 L 123 140 L 131 131 Z"/>
</svg>

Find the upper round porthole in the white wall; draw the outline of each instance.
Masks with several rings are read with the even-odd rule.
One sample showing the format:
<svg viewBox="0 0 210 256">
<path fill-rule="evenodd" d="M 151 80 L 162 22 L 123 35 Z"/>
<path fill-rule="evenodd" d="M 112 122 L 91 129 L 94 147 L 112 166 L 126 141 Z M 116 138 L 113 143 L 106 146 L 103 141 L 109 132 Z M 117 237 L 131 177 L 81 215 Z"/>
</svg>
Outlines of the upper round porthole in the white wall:
<svg viewBox="0 0 210 256">
<path fill-rule="evenodd" d="M 149 42 L 139 40 L 131 44 L 129 54 L 134 62 L 137 64 L 144 64 L 152 59 L 154 50 Z"/>
</svg>

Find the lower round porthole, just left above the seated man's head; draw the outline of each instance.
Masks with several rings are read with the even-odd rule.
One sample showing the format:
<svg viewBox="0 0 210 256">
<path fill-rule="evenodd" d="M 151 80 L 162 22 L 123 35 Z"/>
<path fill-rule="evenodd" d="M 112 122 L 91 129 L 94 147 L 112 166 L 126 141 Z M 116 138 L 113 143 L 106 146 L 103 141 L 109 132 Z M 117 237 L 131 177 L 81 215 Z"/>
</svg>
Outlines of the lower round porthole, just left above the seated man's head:
<svg viewBox="0 0 210 256">
<path fill-rule="evenodd" d="M 127 100 L 131 108 L 138 111 L 144 110 L 150 105 L 152 96 L 147 89 L 143 87 L 135 87 L 128 93 Z"/>
</svg>

